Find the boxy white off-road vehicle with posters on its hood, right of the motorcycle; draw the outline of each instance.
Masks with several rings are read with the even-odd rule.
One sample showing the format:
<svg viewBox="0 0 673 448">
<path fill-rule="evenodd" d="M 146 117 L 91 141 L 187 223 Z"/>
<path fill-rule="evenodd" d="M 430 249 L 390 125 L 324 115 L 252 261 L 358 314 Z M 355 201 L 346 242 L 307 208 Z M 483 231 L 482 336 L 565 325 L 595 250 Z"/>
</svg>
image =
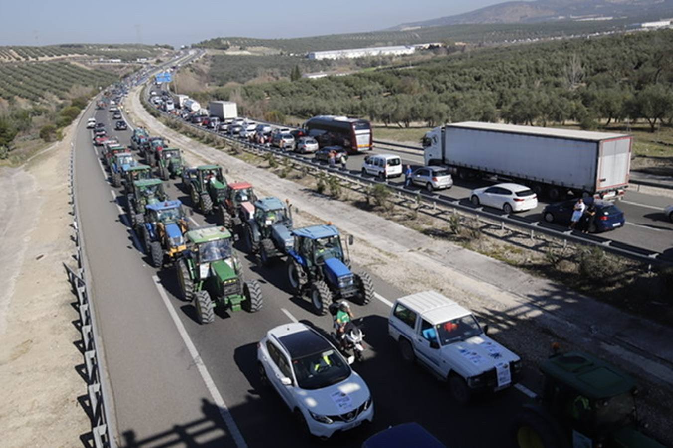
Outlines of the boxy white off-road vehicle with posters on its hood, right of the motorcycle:
<svg viewBox="0 0 673 448">
<path fill-rule="evenodd" d="M 465 404 L 478 391 L 499 391 L 516 382 L 521 359 L 486 335 L 472 313 L 435 291 L 397 299 L 388 334 L 402 359 L 418 361 Z"/>
</svg>

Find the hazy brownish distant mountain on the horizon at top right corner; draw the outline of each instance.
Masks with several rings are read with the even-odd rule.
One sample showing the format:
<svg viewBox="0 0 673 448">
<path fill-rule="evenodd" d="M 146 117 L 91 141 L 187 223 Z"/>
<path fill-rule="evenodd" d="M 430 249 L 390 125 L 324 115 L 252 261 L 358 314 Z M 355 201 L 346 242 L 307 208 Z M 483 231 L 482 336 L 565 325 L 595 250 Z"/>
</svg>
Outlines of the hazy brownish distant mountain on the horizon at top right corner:
<svg viewBox="0 0 673 448">
<path fill-rule="evenodd" d="M 673 0 L 536 0 L 507 1 L 459 15 L 410 22 L 390 30 L 464 24 L 530 24 L 598 17 L 670 17 Z"/>
</svg>

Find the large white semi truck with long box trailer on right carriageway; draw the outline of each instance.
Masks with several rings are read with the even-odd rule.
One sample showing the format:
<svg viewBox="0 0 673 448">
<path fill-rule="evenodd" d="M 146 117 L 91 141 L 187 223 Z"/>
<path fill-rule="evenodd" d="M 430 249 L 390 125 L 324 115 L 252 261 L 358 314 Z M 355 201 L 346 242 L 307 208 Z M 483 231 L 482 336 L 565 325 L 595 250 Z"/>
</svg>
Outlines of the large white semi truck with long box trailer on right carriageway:
<svg viewBox="0 0 673 448">
<path fill-rule="evenodd" d="M 631 143 L 625 134 L 460 122 L 426 133 L 423 158 L 461 179 L 495 176 L 551 200 L 614 198 L 629 184 Z"/>
</svg>

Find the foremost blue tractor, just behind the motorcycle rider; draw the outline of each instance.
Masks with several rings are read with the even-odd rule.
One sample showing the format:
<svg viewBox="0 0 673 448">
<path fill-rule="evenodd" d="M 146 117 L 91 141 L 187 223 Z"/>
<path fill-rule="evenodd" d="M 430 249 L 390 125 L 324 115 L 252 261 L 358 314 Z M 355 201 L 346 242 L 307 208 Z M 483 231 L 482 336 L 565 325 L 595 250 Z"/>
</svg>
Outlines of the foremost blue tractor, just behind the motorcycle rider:
<svg viewBox="0 0 673 448">
<path fill-rule="evenodd" d="M 291 289 L 308 295 L 318 315 L 341 299 L 366 305 L 374 297 L 367 272 L 355 274 L 341 246 L 339 230 L 333 225 L 313 225 L 292 231 L 293 248 L 287 251 L 287 278 Z M 349 237 L 349 246 L 353 237 Z"/>
</svg>

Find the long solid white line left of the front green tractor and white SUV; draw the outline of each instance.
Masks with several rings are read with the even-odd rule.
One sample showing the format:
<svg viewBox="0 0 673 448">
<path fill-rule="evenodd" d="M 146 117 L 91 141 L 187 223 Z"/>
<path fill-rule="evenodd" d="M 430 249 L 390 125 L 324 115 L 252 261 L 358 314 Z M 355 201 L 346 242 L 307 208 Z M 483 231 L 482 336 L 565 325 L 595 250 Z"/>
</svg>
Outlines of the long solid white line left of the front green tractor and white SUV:
<svg viewBox="0 0 673 448">
<path fill-rule="evenodd" d="M 236 443 L 236 446 L 240 448 L 247 448 L 248 444 L 246 443 L 245 439 L 243 439 L 243 435 L 239 431 L 238 426 L 236 426 L 234 417 L 232 417 L 232 414 L 229 412 L 229 408 L 227 408 L 227 404 L 225 404 L 222 395 L 219 393 L 219 390 L 215 385 L 215 381 L 213 381 L 213 378 L 211 377 L 210 373 L 208 373 L 208 369 L 206 368 L 206 365 L 203 363 L 203 359 L 201 359 L 199 351 L 197 350 L 196 346 L 194 346 L 192 340 L 189 338 L 187 331 L 184 329 L 184 325 L 182 324 L 182 321 L 178 317 L 178 313 L 176 313 L 175 308 L 170 303 L 168 295 L 166 294 L 166 290 L 162 286 L 159 277 L 153 275 L 152 279 L 154 281 L 154 286 L 157 288 L 157 291 L 159 291 L 159 295 L 162 296 L 162 299 L 164 300 L 164 305 L 166 305 L 170 317 L 173 319 L 175 326 L 178 328 L 178 333 L 180 333 L 180 336 L 182 336 L 182 341 L 184 342 L 184 345 L 187 347 L 187 350 L 189 350 L 189 354 L 192 356 L 192 361 L 194 362 L 194 365 L 197 366 L 197 369 L 199 369 L 199 373 L 201 373 L 201 378 L 203 379 L 203 382 L 205 383 L 208 391 L 210 392 L 211 397 L 213 398 L 213 402 L 215 402 L 215 405 L 217 405 L 217 408 L 219 408 L 219 414 L 222 416 L 222 420 L 224 420 L 225 424 L 227 425 L 229 432 L 232 433 L 232 437 L 234 439 L 234 442 Z"/>
</svg>

